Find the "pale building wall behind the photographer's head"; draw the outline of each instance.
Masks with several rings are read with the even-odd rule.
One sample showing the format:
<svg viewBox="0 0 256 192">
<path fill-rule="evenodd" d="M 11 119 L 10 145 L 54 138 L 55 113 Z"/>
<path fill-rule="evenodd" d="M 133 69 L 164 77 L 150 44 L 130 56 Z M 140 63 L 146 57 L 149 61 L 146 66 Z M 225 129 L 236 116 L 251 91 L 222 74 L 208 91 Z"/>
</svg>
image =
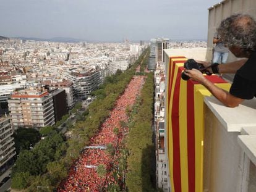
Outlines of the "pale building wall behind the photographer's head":
<svg viewBox="0 0 256 192">
<path fill-rule="evenodd" d="M 212 49 L 215 46 L 213 44 L 213 35 L 221 20 L 237 13 L 249 14 L 256 19 L 256 3 L 255 0 L 225 0 L 220 2 L 220 4 L 210 7 L 208 10 L 207 61 L 211 61 Z M 229 52 L 228 61 L 234 60 L 236 60 L 236 57 Z"/>
</svg>

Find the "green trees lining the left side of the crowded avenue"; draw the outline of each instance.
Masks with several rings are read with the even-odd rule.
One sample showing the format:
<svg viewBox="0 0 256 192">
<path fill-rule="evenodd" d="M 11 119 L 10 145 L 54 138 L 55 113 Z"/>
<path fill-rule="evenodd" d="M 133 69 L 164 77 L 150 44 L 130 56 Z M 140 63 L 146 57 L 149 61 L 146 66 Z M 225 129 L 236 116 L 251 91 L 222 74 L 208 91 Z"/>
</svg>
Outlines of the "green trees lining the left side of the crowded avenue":
<svg viewBox="0 0 256 192">
<path fill-rule="evenodd" d="M 71 137 L 68 140 L 57 126 L 40 130 L 46 136 L 45 140 L 41 140 L 31 150 L 20 152 L 12 171 L 12 188 L 36 191 L 38 186 L 47 186 L 46 191 L 53 191 L 58 187 L 61 180 L 67 177 L 70 166 L 108 117 L 116 99 L 124 92 L 147 51 L 124 73 L 117 70 L 115 75 L 106 78 L 105 83 L 93 93 L 96 99 L 88 111 L 82 114 L 82 120 L 77 121 L 70 130 Z M 76 106 L 74 112 L 79 108 Z"/>
</svg>

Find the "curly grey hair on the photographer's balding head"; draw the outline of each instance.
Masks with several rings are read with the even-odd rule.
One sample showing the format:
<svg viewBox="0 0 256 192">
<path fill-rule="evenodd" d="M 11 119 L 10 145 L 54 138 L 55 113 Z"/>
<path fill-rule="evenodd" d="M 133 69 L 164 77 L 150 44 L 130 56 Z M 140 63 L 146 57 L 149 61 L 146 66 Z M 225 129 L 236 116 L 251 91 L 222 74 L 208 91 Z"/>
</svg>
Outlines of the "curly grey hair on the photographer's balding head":
<svg viewBox="0 0 256 192">
<path fill-rule="evenodd" d="M 218 34 L 227 46 L 238 46 L 246 52 L 256 51 L 256 22 L 250 15 L 235 14 L 224 19 Z"/>
</svg>

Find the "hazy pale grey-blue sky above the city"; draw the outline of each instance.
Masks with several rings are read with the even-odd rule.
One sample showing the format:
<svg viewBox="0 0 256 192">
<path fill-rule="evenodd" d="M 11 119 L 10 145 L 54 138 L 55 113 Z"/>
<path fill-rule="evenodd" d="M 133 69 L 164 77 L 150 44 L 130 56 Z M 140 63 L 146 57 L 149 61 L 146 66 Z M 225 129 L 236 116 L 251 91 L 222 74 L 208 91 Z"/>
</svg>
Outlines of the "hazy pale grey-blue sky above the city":
<svg viewBox="0 0 256 192">
<path fill-rule="evenodd" d="M 91 41 L 206 39 L 220 0 L 0 0 L 0 36 Z"/>
</svg>

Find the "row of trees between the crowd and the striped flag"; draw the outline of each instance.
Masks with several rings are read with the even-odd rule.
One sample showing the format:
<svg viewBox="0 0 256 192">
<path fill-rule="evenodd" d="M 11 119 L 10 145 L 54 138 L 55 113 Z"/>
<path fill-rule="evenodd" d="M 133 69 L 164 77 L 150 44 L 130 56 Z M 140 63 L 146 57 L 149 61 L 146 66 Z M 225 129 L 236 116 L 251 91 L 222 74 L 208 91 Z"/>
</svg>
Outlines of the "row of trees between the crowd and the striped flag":
<svg viewBox="0 0 256 192">
<path fill-rule="evenodd" d="M 153 144 L 153 73 L 149 73 L 138 105 L 132 113 L 127 137 L 126 186 L 129 191 L 155 191 L 155 146 Z"/>
</svg>

